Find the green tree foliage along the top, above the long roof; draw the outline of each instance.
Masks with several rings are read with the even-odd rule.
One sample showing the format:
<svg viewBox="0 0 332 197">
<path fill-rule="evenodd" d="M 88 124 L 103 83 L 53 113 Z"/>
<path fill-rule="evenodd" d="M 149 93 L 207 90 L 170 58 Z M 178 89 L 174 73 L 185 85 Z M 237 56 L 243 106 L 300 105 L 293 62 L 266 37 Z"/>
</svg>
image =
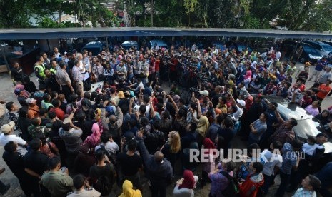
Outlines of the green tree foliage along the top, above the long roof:
<svg viewBox="0 0 332 197">
<path fill-rule="evenodd" d="M 116 15 L 101 3 L 111 0 L 0 0 L 0 27 L 29 27 L 36 16 L 41 27 L 62 27 L 62 14 L 76 14 L 81 26 L 119 24 Z M 331 0 L 119 0 L 116 9 L 126 10 L 129 26 L 209 26 L 219 28 L 271 28 L 269 22 L 291 30 L 331 31 Z M 59 14 L 58 21 L 46 19 Z M 76 24 L 76 26 L 79 26 Z"/>
</svg>

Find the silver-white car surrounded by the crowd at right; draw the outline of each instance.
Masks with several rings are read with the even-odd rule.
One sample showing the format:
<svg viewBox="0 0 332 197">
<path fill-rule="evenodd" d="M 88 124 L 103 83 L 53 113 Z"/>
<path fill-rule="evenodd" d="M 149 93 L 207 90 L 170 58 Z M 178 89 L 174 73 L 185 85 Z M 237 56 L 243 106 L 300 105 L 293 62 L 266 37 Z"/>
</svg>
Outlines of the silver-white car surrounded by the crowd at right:
<svg viewBox="0 0 332 197">
<path fill-rule="evenodd" d="M 313 116 L 306 113 L 306 110 L 298 106 L 296 103 L 291 103 L 281 96 L 264 96 L 270 102 L 278 103 L 277 110 L 283 118 L 283 120 L 288 120 L 290 118 L 295 118 L 298 121 L 298 125 L 293 127 L 296 138 L 301 141 L 306 141 L 308 136 L 317 136 L 318 133 L 322 133 L 318 129 L 321 129 L 321 125 L 313 121 Z M 267 107 L 266 101 L 262 100 L 263 106 Z M 332 153 L 332 143 L 331 139 L 324 143 L 325 153 Z"/>
</svg>

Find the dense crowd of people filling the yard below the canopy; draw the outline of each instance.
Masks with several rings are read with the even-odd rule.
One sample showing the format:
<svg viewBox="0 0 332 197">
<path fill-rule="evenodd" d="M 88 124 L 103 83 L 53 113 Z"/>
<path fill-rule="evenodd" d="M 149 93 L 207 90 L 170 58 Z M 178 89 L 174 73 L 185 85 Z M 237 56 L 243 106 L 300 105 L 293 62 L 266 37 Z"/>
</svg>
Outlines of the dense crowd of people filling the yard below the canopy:
<svg viewBox="0 0 332 197">
<path fill-rule="evenodd" d="M 193 44 L 93 56 L 54 47 L 34 65 L 38 89 L 18 63 L 11 69 L 17 102 L 4 101 L 6 113 L 0 113 L 3 159 L 26 196 L 119 195 L 115 185 L 122 186 L 121 196 L 142 196 L 147 184 L 155 197 L 166 196 L 172 183 L 173 196 L 194 196 L 208 182 L 211 197 L 263 196 L 277 174 L 276 196 L 331 196 L 331 163 L 319 171 L 332 129 L 332 107 L 320 107 L 331 91 L 331 67 L 323 57 L 296 68 L 281 54 Z M 190 94 L 178 88 L 183 76 L 194 86 Z M 161 86 L 166 80 L 173 81 L 169 91 Z M 307 89 L 310 80 L 315 84 Z M 293 131 L 296 119 L 284 120 L 265 95 L 298 103 L 326 131 L 303 144 Z M 223 150 L 227 158 L 236 138 L 246 141 L 246 158 L 260 150 L 280 159 L 213 157 Z M 211 159 L 191 161 L 192 149 Z M 178 174 L 183 178 L 173 180 Z M 0 182 L 0 193 L 9 187 Z"/>
</svg>

